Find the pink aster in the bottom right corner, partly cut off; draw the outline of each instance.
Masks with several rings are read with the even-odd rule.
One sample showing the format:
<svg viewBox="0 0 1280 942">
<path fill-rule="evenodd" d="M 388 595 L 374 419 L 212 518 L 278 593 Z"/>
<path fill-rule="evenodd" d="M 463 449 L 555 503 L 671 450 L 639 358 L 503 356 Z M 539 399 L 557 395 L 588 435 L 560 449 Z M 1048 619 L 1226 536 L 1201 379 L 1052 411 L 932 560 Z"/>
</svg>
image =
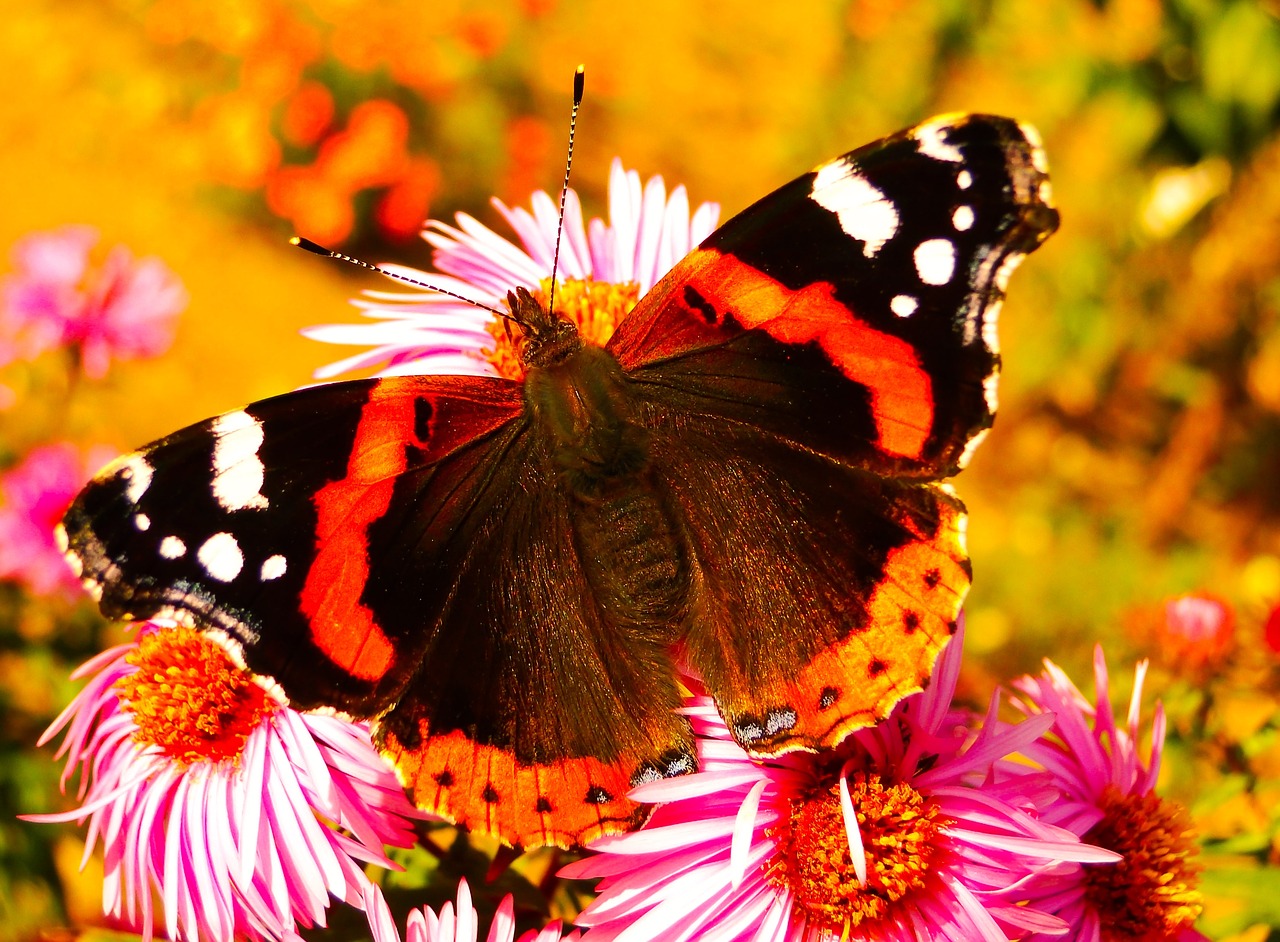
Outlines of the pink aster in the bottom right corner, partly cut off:
<svg viewBox="0 0 1280 942">
<path fill-rule="evenodd" d="M 1038 901 L 1068 922 L 1071 942 L 1204 938 L 1192 928 L 1202 907 L 1194 831 L 1181 805 L 1156 795 L 1165 742 L 1160 704 L 1151 750 L 1139 747 L 1146 673 L 1147 662 L 1140 662 L 1124 726 L 1111 712 L 1101 646 L 1093 654 L 1092 703 L 1052 662 L 1044 662 L 1039 677 L 1014 683 L 1021 694 L 1015 706 L 1037 719 L 1053 718 L 1048 733 L 1023 749 L 1053 776 L 1060 792 L 1044 806 L 1043 819 L 1123 858 L 1114 866 L 1070 868 Z"/>
</svg>

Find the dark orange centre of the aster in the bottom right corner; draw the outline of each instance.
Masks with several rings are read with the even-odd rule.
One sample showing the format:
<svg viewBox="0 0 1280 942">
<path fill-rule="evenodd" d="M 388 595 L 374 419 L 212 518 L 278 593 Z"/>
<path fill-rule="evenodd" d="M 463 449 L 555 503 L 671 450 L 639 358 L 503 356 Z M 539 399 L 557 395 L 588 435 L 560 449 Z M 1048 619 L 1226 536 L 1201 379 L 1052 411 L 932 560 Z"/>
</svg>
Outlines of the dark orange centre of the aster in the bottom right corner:
<svg viewBox="0 0 1280 942">
<path fill-rule="evenodd" d="M 1124 855 L 1115 864 L 1085 865 L 1085 897 L 1101 918 L 1102 938 L 1157 942 L 1189 928 L 1203 901 L 1187 810 L 1155 792 L 1125 795 L 1115 786 L 1102 792 L 1101 806 L 1106 817 L 1084 840 Z"/>
</svg>

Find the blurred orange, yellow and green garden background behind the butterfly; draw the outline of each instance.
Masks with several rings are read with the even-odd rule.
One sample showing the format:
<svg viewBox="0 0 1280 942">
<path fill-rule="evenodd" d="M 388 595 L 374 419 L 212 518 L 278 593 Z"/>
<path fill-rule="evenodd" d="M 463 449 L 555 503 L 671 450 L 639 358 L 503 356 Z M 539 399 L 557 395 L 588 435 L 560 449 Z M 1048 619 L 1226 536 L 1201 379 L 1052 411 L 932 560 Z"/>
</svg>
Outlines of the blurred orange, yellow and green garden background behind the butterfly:
<svg viewBox="0 0 1280 942">
<path fill-rule="evenodd" d="M 1000 419 L 956 484 L 970 682 L 1046 657 L 1084 678 L 1102 643 L 1126 694 L 1151 658 L 1162 790 L 1204 847 L 1201 927 L 1280 939 L 1277 18 L 1274 0 L 10 0 L 0 276 L 32 233 L 88 225 L 92 264 L 116 244 L 163 262 L 172 311 L 110 362 L 0 351 L 0 543 L 50 467 L 70 481 L 51 521 L 102 454 L 349 352 L 298 330 L 355 323 L 379 279 L 294 232 L 417 266 L 429 215 L 506 233 L 492 195 L 559 186 L 580 61 L 591 215 L 614 155 L 724 219 L 931 114 L 1010 114 L 1042 132 L 1062 227 L 1012 280 Z M 0 585 L 0 938 L 100 922 L 82 834 L 13 815 L 65 806 L 35 741 L 68 672 L 119 637 L 24 563 Z"/>
</svg>

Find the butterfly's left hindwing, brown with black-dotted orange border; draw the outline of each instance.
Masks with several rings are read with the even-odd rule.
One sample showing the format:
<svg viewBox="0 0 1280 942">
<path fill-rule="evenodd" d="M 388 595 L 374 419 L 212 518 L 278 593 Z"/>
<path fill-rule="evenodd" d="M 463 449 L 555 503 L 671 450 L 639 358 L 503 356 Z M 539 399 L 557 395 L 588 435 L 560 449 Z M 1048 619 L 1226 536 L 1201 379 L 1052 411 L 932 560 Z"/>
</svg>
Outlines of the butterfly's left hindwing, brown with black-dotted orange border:
<svg viewBox="0 0 1280 942">
<path fill-rule="evenodd" d="M 662 639 L 603 616 L 570 497 L 536 449 L 509 461 L 513 497 L 468 536 L 443 626 L 376 740 L 421 806 L 572 846 L 634 827 L 627 792 L 692 772 L 692 736 Z"/>
</svg>

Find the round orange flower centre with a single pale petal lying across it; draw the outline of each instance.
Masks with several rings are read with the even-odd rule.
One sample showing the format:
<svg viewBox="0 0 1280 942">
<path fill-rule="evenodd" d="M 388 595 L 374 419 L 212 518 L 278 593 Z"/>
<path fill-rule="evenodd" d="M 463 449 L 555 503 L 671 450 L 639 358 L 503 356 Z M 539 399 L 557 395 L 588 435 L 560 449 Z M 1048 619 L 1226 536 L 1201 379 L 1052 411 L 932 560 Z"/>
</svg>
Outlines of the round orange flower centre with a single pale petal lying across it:
<svg viewBox="0 0 1280 942">
<path fill-rule="evenodd" d="M 840 783 L 792 802 L 778 834 L 769 878 L 790 888 L 810 925 L 846 936 L 884 919 L 895 902 L 925 886 L 950 819 L 909 785 L 884 786 L 877 774 L 850 778 L 850 796 L 867 854 L 867 886 L 849 854 Z"/>
</svg>

